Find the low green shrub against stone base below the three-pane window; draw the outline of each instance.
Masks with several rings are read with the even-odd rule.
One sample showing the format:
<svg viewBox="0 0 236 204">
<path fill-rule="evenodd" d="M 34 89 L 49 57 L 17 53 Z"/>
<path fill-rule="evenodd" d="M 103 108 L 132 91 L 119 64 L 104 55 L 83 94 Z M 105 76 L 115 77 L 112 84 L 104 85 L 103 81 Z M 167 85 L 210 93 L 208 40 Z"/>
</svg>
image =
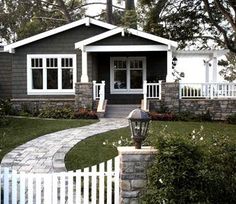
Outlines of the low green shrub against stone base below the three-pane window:
<svg viewBox="0 0 236 204">
<path fill-rule="evenodd" d="M 72 119 L 74 118 L 74 110 L 71 107 L 63 107 L 63 108 L 47 107 L 42 111 L 40 111 L 38 117 L 54 118 L 54 119 Z"/>
</svg>

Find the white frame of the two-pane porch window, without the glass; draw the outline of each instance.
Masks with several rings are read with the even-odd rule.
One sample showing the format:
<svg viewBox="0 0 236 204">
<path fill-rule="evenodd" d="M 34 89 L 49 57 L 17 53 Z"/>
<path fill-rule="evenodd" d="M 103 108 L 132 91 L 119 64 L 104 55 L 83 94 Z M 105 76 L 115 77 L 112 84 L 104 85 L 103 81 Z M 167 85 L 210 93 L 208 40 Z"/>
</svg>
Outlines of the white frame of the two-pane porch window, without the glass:
<svg viewBox="0 0 236 204">
<path fill-rule="evenodd" d="M 143 61 L 143 80 L 146 80 L 146 57 L 138 56 L 138 57 L 111 57 L 110 58 L 110 93 L 111 94 L 142 94 L 143 89 L 131 89 L 130 88 L 130 61 L 133 59 L 139 59 Z M 126 60 L 127 62 L 127 68 L 126 68 L 126 89 L 114 89 L 114 60 Z"/>
</svg>

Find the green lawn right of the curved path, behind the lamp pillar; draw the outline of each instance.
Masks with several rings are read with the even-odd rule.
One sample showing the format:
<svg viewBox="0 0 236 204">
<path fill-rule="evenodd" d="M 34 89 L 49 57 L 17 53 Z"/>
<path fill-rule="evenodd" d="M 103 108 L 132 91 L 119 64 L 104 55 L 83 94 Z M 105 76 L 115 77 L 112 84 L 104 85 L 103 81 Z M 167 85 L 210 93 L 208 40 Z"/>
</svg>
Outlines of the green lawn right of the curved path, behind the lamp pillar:
<svg viewBox="0 0 236 204">
<path fill-rule="evenodd" d="M 154 138 L 166 125 L 167 132 L 186 137 L 189 136 L 194 129 L 200 130 L 201 126 L 203 126 L 202 136 L 204 137 L 204 140 L 209 140 L 210 142 L 212 136 L 220 138 L 220 136 L 224 135 L 228 136 L 231 142 L 236 143 L 236 125 L 217 122 L 153 121 L 150 124 L 149 137 Z M 117 156 L 117 149 L 112 143 L 120 140 L 121 136 L 123 138 L 130 138 L 129 128 L 96 135 L 78 143 L 66 155 L 66 168 L 68 170 L 81 169 Z M 108 144 L 104 145 L 104 142 Z"/>
</svg>

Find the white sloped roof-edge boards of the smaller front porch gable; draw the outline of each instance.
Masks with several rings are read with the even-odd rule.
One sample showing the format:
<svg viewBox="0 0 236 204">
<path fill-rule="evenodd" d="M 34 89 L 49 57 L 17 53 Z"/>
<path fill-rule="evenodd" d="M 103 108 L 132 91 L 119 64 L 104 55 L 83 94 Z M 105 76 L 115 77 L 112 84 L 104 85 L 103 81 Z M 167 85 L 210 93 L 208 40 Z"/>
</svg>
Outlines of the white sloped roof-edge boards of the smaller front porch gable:
<svg viewBox="0 0 236 204">
<path fill-rule="evenodd" d="M 111 36 L 116 35 L 118 33 L 121 33 L 122 35 L 125 35 L 125 33 L 129 33 L 129 34 L 132 34 L 132 35 L 135 35 L 135 36 L 138 36 L 138 37 L 141 37 L 141 38 L 145 38 L 145 39 L 148 39 L 148 40 L 152 40 L 152 41 L 155 41 L 155 42 L 158 42 L 158 43 L 161 43 L 161 44 L 165 44 L 165 45 L 168 45 L 168 46 L 172 46 L 172 47 L 177 47 L 178 46 L 177 42 L 172 41 L 172 40 L 168 40 L 168 39 L 165 39 L 165 38 L 162 38 L 162 37 L 158 37 L 156 35 L 152 35 L 152 34 L 142 32 L 142 31 L 139 31 L 139 30 L 135 30 L 135 29 L 132 29 L 132 28 L 117 27 L 117 28 L 111 29 L 107 32 L 104 32 L 104 33 L 101 33 L 99 35 L 88 38 L 86 40 L 79 41 L 79 42 L 75 43 L 75 48 L 76 49 L 78 49 L 78 48 L 83 49 L 83 47 L 86 46 L 86 45 L 89 45 L 89 44 L 92 44 L 94 42 L 103 40 L 105 38 L 111 37 Z"/>
</svg>

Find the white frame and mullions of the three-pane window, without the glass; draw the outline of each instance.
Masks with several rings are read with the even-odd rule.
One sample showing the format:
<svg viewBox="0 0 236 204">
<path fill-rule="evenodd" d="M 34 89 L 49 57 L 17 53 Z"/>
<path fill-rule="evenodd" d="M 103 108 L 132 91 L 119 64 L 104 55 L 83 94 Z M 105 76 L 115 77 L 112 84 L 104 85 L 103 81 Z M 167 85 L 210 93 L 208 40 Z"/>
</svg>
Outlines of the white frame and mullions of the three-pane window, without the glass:
<svg viewBox="0 0 236 204">
<path fill-rule="evenodd" d="M 43 60 L 43 89 L 32 89 L 32 68 L 31 59 L 41 58 Z M 57 58 L 58 60 L 58 89 L 47 89 L 47 58 Z M 73 88 L 72 89 L 62 89 L 62 69 L 61 66 L 62 58 L 72 58 L 72 69 L 73 69 Z M 74 84 L 77 81 L 77 68 L 76 68 L 76 54 L 29 54 L 27 55 L 27 95 L 73 95 L 75 93 Z M 69 68 L 68 68 L 69 69 Z"/>
</svg>

